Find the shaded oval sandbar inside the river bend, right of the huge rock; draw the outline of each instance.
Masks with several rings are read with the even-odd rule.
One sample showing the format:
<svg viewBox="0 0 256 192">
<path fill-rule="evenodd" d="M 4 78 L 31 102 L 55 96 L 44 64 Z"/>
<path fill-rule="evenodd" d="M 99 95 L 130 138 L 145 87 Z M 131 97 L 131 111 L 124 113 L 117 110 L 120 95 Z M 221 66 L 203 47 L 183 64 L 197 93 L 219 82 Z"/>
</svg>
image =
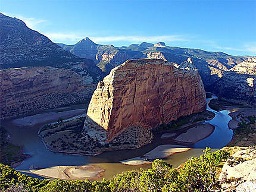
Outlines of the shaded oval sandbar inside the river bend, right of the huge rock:
<svg viewBox="0 0 256 192">
<path fill-rule="evenodd" d="M 186 133 L 180 134 L 174 141 L 179 143 L 193 144 L 199 140 L 205 139 L 210 136 L 215 127 L 211 124 L 199 124 L 195 127 L 190 128 Z"/>
</svg>

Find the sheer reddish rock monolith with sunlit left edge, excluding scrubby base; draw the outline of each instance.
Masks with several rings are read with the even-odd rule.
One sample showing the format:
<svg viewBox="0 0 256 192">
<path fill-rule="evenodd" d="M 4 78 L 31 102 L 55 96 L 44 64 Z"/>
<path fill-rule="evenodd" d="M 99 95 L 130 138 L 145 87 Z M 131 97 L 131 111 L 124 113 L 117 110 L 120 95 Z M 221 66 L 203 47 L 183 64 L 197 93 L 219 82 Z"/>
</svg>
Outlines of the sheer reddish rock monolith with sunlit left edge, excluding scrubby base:
<svg viewBox="0 0 256 192">
<path fill-rule="evenodd" d="M 115 67 L 93 93 L 84 131 L 110 141 L 129 127 L 153 128 L 204 111 L 201 77 L 187 63 L 178 68 L 162 59 L 134 59 Z"/>
</svg>

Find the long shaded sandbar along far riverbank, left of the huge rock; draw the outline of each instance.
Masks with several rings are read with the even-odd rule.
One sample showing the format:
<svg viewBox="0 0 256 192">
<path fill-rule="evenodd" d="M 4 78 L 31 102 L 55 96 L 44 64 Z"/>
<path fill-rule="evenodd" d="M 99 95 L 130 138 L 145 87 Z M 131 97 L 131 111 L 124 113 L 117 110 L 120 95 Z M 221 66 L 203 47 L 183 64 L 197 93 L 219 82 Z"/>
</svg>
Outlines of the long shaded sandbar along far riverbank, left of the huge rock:
<svg viewBox="0 0 256 192">
<path fill-rule="evenodd" d="M 14 119 L 13 124 L 20 127 L 33 127 L 35 124 L 45 124 L 50 121 L 58 121 L 59 118 L 70 118 L 79 114 L 85 114 L 85 109 L 74 109 L 63 112 L 47 112 L 45 114 L 37 114 L 24 118 Z"/>
</svg>

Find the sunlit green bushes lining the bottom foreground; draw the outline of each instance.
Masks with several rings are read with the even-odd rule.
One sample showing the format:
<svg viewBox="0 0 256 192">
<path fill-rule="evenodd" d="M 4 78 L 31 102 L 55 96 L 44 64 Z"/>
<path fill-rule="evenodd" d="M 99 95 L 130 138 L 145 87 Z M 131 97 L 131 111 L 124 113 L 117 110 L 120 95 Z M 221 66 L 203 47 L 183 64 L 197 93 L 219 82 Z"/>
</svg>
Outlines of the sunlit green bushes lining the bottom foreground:
<svg viewBox="0 0 256 192">
<path fill-rule="evenodd" d="M 154 160 L 148 170 L 126 171 L 111 180 L 64 181 L 39 180 L 0 164 L 0 190 L 11 191 L 210 191 L 219 190 L 217 166 L 226 161 L 224 150 L 205 149 L 199 158 L 191 158 L 173 169 L 164 160 Z"/>
</svg>

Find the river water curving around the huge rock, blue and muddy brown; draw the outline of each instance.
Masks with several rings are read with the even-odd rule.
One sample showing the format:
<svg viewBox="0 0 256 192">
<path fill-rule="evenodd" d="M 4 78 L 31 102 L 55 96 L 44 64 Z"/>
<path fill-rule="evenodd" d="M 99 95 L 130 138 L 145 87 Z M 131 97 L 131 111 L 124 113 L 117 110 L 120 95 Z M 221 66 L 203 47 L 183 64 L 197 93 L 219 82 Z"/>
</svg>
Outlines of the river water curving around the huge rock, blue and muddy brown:
<svg viewBox="0 0 256 192">
<path fill-rule="evenodd" d="M 211 99 L 214 98 L 217 97 L 212 97 Z M 229 130 L 227 123 L 230 121 L 230 119 L 232 119 L 228 114 L 233 112 L 235 109 L 227 109 L 217 112 L 209 108 L 209 101 L 210 99 L 207 99 L 207 109 L 214 112 L 216 116 L 210 121 L 205 121 L 203 123 L 210 123 L 214 125 L 216 127 L 214 132 L 209 137 L 193 144 L 193 146 L 189 146 L 193 149 L 187 152 L 176 153 L 173 156 L 167 158 L 166 161 L 173 165 L 174 168 L 192 156 L 200 156 L 202 154 L 202 150 L 205 147 L 211 147 L 213 150 L 217 150 L 224 147 L 232 139 L 233 131 Z M 49 121 L 48 123 L 50 122 L 52 121 Z M 33 127 L 18 127 L 17 125 L 13 124 L 13 121 L 9 120 L 3 121 L 2 125 L 10 133 L 12 143 L 23 146 L 24 153 L 28 153 L 31 156 L 31 158 L 24 160 L 15 169 L 37 178 L 40 177 L 29 172 L 30 167 L 34 166 L 38 168 L 49 168 L 51 166 L 58 165 L 96 165 L 106 170 L 103 177 L 109 179 L 113 177 L 113 175 L 122 171 L 139 168 L 146 169 L 151 167 L 150 164 L 124 165 L 123 163 L 120 163 L 120 160 L 142 156 L 161 144 L 175 144 L 172 141 L 163 140 L 160 139 L 160 137 L 156 137 L 152 143 L 147 144 L 146 146 L 142 146 L 140 149 L 104 152 L 97 156 L 73 156 L 61 153 L 53 153 L 46 149 L 38 137 L 38 130 L 40 127 L 42 127 L 43 124 L 35 124 Z"/>
</svg>

